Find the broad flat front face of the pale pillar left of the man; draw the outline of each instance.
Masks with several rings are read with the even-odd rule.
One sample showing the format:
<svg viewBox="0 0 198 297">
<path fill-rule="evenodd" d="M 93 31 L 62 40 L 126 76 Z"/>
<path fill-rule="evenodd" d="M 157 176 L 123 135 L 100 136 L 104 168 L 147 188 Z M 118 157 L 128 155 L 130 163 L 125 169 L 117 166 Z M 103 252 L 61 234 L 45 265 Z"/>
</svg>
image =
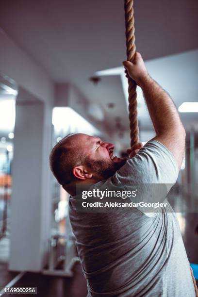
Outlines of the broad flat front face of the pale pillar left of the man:
<svg viewBox="0 0 198 297">
<path fill-rule="evenodd" d="M 20 97 L 21 91 L 18 96 Z M 11 200 L 11 270 L 39 270 L 44 104 L 16 100 Z"/>
</svg>

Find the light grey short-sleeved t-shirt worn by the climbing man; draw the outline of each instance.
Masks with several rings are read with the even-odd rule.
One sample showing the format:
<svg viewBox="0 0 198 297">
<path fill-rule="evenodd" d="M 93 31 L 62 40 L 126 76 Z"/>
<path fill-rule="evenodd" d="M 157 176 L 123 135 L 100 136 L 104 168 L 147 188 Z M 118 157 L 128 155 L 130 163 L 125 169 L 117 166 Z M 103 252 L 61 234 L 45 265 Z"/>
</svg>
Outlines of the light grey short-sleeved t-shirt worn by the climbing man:
<svg viewBox="0 0 198 297">
<path fill-rule="evenodd" d="M 177 177 L 171 152 L 151 140 L 102 184 L 174 184 Z M 71 197 L 69 215 L 88 297 L 195 296 L 178 220 L 167 200 L 151 215 L 135 207 L 126 213 L 79 213 L 75 202 Z"/>
</svg>

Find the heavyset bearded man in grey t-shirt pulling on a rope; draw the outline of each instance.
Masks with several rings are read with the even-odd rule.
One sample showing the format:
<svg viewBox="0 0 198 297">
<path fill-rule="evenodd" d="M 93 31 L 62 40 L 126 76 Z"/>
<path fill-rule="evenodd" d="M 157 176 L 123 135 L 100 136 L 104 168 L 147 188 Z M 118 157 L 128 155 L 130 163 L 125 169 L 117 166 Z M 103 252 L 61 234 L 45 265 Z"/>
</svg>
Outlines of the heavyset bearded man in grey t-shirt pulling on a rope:
<svg viewBox="0 0 198 297">
<path fill-rule="evenodd" d="M 123 64 L 144 93 L 156 136 L 129 149 L 127 159 L 114 155 L 113 144 L 81 133 L 66 136 L 50 154 L 54 176 L 71 195 L 69 215 L 88 297 L 194 297 L 179 224 L 167 200 L 152 214 L 135 207 L 78 211 L 79 184 L 173 185 L 181 168 L 185 131 L 174 103 L 148 75 L 139 53 Z"/>
</svg>

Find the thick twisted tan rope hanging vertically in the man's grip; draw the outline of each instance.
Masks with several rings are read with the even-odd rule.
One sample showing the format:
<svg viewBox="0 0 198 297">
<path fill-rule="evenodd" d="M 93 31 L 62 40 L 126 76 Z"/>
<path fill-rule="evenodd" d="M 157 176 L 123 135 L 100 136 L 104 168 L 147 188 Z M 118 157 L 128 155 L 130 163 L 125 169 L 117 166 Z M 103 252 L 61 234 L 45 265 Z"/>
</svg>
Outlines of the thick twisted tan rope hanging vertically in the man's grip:
<svg viewBox="0 0 198 297">
<path fill-rule="evenodd" d="M 125 10 L 125 26 L 126 26 L 126 45 L 127 45 L 127 60 L 133 62 L 135 54 L 135 28 L 133 16 L 133 0 L 124 0 Z M 128 79 L 129 92 L 129 121 L 130 121 L 130 137 L 131 147 L 139 142 L 139 128 L 137 120 L 137 93 L 136 83 Z"/>
</svg>

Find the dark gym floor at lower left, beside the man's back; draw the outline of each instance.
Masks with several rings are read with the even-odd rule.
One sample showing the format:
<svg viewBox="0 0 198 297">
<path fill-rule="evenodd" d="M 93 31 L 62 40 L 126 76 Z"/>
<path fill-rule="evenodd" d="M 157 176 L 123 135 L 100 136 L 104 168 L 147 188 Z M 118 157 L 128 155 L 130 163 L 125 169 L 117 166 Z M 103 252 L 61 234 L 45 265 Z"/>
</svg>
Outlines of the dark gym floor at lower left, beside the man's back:
<svg viewBox="0 0 198 297">
<path fill-rule="evenodd" d="M 10 235 L 6 232 L 6 236 L 0 239 L 0 287 L 6 286 L 10 281 L 15 279 L 18 272 L 9 272 L 9 250 Z M 87 288 L 86 281 L 82 274 L 82 268 L 79 263 L 73 267 L 74 276 L 72 278 L 53 277 L 43 275 L 42 273 L 26 272 L 14 286 L 37 287 L 37 297 L 86 297 Z M 20 296 L 20 294 L 6 294 L 3 296 Z M 24 297 L 25 295 L 21 295 Z M 27 296 L 27 295 L 26 295 Z M 29 295 L 28 295 L 29 296 Z"/>
</svg>

